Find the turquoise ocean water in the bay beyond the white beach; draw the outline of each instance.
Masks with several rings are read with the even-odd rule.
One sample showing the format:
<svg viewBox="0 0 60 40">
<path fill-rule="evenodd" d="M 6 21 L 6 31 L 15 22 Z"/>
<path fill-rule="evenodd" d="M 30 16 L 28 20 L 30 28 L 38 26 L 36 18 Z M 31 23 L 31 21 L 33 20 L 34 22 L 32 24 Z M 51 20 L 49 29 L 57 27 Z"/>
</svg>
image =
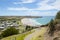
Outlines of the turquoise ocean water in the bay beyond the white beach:
<svg viewBox="0 0 60 40">
<path fill-rule="evenodd" d="M 50 22 L 51 19 L 54 19 L 54 16 L 43 16 L 42 18 L 33 18 L 36 22 L 44 25 Z"/>
</svg>

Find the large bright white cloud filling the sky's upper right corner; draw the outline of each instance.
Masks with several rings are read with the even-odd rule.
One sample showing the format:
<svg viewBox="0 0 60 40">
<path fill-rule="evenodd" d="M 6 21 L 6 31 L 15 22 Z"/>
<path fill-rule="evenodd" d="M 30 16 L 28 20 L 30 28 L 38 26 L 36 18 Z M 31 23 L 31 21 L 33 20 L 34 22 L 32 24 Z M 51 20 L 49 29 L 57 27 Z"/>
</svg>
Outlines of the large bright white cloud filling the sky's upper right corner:
<svg viewBox="0 0 60 40">
<path fill-rule="evenodd" d="M 60 10 L 60 0 L 56 0 L 52 5 L 49 5 L 48 2 L 50 0 L 44 0 L 42 2 L 37 3 L 38 8 L 36 10 Z"/>
</svg>

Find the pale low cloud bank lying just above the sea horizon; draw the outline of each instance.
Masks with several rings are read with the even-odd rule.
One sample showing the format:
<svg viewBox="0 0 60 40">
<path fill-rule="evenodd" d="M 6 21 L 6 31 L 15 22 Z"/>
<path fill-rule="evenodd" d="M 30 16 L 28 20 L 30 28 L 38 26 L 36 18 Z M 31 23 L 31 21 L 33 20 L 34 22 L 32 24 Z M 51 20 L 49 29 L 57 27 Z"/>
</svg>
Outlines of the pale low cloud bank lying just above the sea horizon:
<svg viewBox="0 0 60 40">
<path fill-rule="evenodd" d="M 55 16 L 56 12 L 51 11 L 36 11 L 36 10 L 26 10 L 24 14 L 27 14 L 27 16 Z"/>
</svg>

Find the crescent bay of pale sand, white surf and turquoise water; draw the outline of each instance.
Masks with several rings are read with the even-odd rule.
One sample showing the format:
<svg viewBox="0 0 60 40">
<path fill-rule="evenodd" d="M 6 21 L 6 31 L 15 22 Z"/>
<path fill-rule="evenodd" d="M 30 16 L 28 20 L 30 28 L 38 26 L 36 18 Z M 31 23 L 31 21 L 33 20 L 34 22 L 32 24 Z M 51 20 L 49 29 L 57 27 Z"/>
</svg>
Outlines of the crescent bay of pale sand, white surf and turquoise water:
<svg viewBox="0 0 60 40">
<path fill-rule="evenodd" d="M 21 20 L 21 22 L 24 25 L 37 26 L 47 24 L 53 18 L 53 16 L 44 16 L 42 18 L 24 18 Z"/>
</svg>

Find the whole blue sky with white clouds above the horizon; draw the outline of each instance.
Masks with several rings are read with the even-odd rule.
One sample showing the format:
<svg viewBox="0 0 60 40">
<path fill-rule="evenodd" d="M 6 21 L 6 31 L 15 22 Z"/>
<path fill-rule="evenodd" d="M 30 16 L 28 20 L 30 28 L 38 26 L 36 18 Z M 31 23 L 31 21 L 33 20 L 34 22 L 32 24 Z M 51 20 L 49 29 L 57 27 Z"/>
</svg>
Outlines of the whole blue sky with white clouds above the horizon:
<svg viewBox="0 0 60 40">
<path fill-rule="evenodd" d="M 0 0 L 0 16 L 55 16 L 60 0 Z"/>
</svg>

